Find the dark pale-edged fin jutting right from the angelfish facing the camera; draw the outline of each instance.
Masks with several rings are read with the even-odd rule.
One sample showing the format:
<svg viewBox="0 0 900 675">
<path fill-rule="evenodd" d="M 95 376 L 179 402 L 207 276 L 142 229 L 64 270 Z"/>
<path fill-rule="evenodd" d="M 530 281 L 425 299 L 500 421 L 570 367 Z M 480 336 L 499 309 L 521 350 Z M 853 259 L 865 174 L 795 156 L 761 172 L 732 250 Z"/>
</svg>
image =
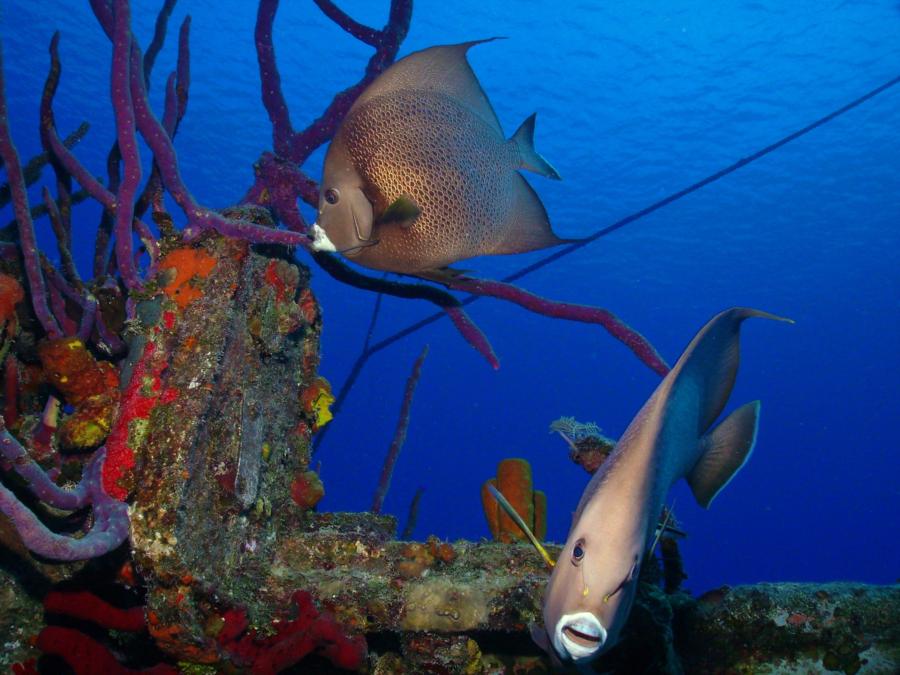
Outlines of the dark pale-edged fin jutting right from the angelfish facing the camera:
<svg viewBox="0 0 900 675">
<path fill-rule="evenodd" d="M 759 401 L 742 405 L 700 439 L 703 454 L 687 481 L 703 508 L 709 508 L 716 495 L 750 459 L 756 443 L 759 405 Z"/>
</svg>

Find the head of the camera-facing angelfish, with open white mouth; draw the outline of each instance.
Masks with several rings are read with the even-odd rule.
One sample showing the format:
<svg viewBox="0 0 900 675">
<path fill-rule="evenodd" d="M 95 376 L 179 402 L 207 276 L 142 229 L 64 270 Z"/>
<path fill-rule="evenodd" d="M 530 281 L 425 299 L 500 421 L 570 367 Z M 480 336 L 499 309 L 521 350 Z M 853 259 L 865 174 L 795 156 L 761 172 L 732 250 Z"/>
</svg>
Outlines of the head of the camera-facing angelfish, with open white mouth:
<svg viewBox="0 0 900 675">
<path fill-rule="evenodd" d="M 544 594 L 545 651 L 582 665 L 616 644 L 634 601 L 642 547 L 576 524 Z M 533 631 L 534 636 L 534 631 Z"/>
</svg>

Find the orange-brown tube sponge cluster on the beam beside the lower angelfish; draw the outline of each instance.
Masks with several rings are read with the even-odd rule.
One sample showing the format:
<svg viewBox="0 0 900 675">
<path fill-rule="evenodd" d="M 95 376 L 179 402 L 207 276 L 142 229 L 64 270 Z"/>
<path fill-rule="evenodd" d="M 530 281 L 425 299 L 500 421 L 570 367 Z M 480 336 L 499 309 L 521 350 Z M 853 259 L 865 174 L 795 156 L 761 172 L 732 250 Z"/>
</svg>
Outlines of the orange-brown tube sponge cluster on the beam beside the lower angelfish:
<svg viewBox="0 0 900 675">
<path fill-rule="evenodd" d="M 496 478 L 485 481 L 481 486 L 481 505 L 491 536 L 506 544 L 527 541 L 521 528 L 500 508 L 488 485 L 493 485 L 506 497 L 539 540 L 547 536 L 547 495 L 534 489 L 528 460 L 518 457 L 504 459 L 497 465 Z"/>
</svg>

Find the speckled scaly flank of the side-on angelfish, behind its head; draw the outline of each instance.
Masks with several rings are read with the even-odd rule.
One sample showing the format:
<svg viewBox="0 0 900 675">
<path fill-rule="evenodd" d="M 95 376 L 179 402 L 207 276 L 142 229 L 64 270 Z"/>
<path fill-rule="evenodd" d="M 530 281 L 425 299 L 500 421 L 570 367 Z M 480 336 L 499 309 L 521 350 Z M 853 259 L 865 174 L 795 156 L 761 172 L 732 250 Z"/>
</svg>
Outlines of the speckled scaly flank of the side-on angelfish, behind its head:
<svg viewBox="0 0 900 675">
<path fill-rule="evenodd" d="M 357 262 L 417 272 L 491 253 L 511 226 L 518 151 L 479 115 L 439 92 L 400 91 L 351 111 L 345 145 L 375 213 L 402 195 L 421 214 L 409 228 L 376 225 Z M 378 250 L 376 250 L 378 249 Z"/>
</svg>

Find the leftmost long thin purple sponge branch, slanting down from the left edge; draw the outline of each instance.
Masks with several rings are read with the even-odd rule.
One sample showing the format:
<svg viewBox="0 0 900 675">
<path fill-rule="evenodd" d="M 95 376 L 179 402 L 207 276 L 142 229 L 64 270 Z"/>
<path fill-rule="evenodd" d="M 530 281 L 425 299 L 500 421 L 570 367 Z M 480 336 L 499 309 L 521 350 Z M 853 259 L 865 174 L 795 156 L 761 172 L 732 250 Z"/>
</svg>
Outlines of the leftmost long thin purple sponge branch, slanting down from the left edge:
<svg viewBox="0 0 900 675">
<path fill-rule="evenodd" d="M 47 289 L 44 285 L 44 276 L 41 274 L 37 242 L 34 236 L 34 223 L 31 220 L 31 209 L 28 206 L 28 195 L 25 190 L 25 176 L 22 173 L 19 152 L 16 150 L 9 131 L 2 53 L 0 53 L 0 158 L 6 165 L 13 210 L 19 227 L 19 242 L 25 264 L 25 275 L 31 289 L 31 302 L 35 316 L 50 337 L 61 337 L 62 331 L 59 324 L 53 318 L 47 305 Z"/>
</svg>

